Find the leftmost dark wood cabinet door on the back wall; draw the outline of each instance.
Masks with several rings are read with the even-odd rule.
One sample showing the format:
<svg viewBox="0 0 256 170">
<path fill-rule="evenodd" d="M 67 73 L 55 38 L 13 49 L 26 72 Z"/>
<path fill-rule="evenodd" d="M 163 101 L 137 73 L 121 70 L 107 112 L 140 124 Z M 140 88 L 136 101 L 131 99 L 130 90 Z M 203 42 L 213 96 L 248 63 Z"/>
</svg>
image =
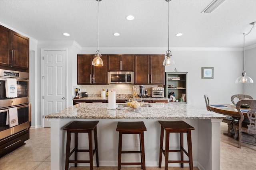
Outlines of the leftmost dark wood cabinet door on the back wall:
<svg viewBox="0 0 256 170">
<path fill-rule="evenodd" d="M 77 84 L 91 84 L 92 55 L 77 55 Z"/>
</svg>

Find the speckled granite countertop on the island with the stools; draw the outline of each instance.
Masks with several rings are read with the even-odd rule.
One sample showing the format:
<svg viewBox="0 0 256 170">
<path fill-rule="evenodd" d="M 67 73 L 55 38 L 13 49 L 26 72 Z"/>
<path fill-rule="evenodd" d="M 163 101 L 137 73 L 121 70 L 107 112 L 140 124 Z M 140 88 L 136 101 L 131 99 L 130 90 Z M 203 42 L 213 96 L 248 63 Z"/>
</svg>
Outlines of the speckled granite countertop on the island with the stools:
<svg viewBox="0 0 256 170">
<path fill-rule="evenodd" d="M 47 119 L 223 119 L 225 116 L 187 104 L 151 103 L 152 107 L 107 109 L 108 103 L 80 103 L 56 113 Z"/>
</svg>

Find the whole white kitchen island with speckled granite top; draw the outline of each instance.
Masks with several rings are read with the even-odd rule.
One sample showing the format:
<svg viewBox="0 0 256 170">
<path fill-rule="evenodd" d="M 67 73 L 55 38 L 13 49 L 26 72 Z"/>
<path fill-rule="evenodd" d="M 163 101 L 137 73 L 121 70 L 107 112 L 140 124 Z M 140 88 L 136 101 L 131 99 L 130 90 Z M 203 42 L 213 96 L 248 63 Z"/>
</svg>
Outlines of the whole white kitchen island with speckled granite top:
<svg viewBox="0 0 256 170">
<path fill-rule="evenodd" d="M 158 166 L 160 145 L 160 124 L 158 121 L 183 120 L 195 128 L 192 131 L 194 166 L 198 166 L 200 170 L 220 170 L 220 122 L 224 118 L 223 115 L 175 102 L 169 104 L 152 103 L 150 106 L 152 107 L 141 107 L 140 109 L 129 107 L 107 109 L 107 103 L 80 103 L 47 115 L 46 118 L 51 122 L 51 169 L 64 169 L 66 133 L 63 128 L 71 121 L 100 121 L 97 125 L 100 166 L 117 166 L 117 122 L 144 121 L 147 128 L 147 131 L 144 132 L 146 166 Z M 78 140 L 80 141 L 78 142 L 78 147 L 88 147 L 86 134 L 80 134 Z M 124 135 L 123 141 L 123 150 L 139 148 L 138 136 L 136 135 Z M 178 143 L 178 134 L 171 134 L 170 149 L 178 149 Z M 186 140 L 184 147 L 187 149 Z M 81 156 L 88 155 L 84 153 Z M 178 158 L 178 153 L 170 155 L 170 159 Z M 186 159 L 187 157 L 184 156 L 184 158 Z M 128 162 L 138 161 L 140 157 L 136 154 L 124 154 L 122 160 Z M 94 165 L 96 165 L 95 162 Z M 78 164 L 78 166 L 89 166 L 89 164 Z M 180 164 L 169 164 L 169 166 L 180 166 Z M 184 166 L 188 166 L 188 164 L 184 164 Z"/>
</svg>

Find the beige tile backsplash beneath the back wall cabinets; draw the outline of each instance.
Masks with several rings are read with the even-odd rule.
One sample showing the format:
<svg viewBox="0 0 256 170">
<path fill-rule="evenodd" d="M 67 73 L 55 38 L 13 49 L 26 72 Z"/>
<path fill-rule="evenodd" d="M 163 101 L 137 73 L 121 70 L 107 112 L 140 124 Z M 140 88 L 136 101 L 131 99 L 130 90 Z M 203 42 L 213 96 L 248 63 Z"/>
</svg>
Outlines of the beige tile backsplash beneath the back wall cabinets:
<svg viewBox="0 0 256 170">
<path fill-rule="evenodd" d="M 81 92 L 87 92 L 89 97 L 100 97 L 101 91 L 104 89 L 105 91 L 110 92 L 113 90 L 116 92 L 117 96 L 131 96 L 132 94 L 132 86 L 135 86 L 137 91 L 140 90 L 140 85 L 134 84 L 108 84 L 108 85 L 77 85 L 75 88 L 80 88 Z M 148 90 L 148 95 L 151 96 L 151 87 L 157 87 L 158 85 L 143 85 L 144 90 Z M 74 95 L 74 94 L 73 94 Z"/>
</svg>

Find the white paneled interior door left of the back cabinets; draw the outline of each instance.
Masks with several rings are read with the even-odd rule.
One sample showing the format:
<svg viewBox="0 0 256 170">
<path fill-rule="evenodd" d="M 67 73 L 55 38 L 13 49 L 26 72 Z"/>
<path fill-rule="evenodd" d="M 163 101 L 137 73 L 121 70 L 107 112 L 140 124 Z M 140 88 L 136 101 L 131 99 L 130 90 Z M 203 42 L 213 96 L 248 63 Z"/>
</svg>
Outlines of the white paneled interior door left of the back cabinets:
<svg viewBox="0 0 256 170">
<path fill-rule="evenodd" d="M 66 51 L 44 50 L 43 114 L 55 113 L 66 108 Z M 50 121 L 44 118 L 44 127 Z"/>
</svg>

